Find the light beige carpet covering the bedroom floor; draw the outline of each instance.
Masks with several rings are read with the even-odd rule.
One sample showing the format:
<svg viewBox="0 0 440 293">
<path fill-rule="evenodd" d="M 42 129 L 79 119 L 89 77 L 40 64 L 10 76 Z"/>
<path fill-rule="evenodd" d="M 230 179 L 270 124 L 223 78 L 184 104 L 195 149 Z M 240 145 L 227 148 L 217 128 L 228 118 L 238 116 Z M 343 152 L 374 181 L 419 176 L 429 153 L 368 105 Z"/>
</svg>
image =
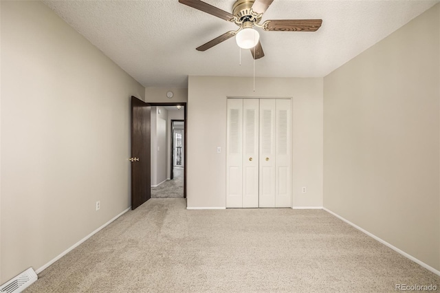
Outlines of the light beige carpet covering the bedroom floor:
<svg viewBox="0 0 440 293">
<path fill-rule="evenodd" d="M 186 210 L 150 199 L 25 292 L 395 292 L 440 277 L 324 210 Z"/>
</svg>

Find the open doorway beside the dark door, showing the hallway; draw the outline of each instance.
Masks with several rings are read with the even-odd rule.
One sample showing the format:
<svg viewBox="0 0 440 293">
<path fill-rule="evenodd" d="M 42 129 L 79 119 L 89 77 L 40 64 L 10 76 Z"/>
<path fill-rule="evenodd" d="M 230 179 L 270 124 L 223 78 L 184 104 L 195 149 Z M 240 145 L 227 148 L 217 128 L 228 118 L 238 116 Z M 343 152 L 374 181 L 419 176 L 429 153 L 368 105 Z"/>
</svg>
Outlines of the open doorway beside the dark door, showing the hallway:
<svg viewBox="0 0 440 293">
<path fill-rule="evenodd" d="M 151 105 L 151 197 L 186 198 L 186 102 Z"/>
</svg>

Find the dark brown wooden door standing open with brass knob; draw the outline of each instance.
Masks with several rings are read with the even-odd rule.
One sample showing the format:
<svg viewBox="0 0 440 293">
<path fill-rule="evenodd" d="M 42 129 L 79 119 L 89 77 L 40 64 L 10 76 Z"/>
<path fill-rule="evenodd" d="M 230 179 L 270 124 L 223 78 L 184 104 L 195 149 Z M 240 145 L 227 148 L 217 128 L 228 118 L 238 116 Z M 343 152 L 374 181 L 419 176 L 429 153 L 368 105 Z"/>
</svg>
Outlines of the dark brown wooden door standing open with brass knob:
<svg viewBox="0 0 440 293">
<path fill-rule="evenodd" d="M 131 209 L 151 198 L 151 107 L 131 97 Z"/>
</svg>

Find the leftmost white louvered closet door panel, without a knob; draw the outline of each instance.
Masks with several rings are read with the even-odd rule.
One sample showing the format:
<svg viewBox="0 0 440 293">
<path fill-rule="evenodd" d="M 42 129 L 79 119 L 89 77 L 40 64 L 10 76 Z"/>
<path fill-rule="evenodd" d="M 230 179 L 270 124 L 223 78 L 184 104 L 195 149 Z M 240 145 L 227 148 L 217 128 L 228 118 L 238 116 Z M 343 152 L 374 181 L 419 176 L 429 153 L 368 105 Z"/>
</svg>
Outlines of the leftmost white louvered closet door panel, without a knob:
<svg viewBox="0 0 440 293">
<path fill-rule="evenodd" d="M 243 100 L 228 99 L 226 207 L 243 207 Z"/>
</svg>

